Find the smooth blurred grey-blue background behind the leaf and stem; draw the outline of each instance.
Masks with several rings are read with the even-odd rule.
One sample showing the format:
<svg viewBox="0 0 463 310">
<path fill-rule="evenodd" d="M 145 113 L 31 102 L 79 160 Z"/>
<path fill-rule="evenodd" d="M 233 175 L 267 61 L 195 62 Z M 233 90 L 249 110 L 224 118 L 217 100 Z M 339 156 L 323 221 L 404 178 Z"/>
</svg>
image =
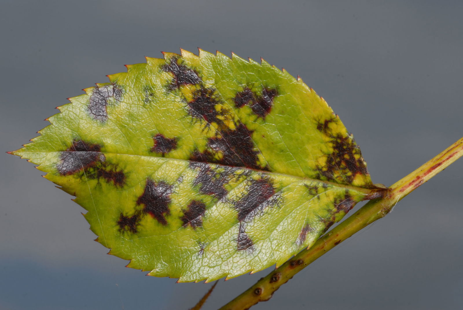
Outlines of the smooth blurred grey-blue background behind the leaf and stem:
<svg viewBox="0 0 463 310">
<path fill-rule="evenodd" d="M 462 13 L 462 1 L 2 0 L 0 309 L 188 309 L 210 287 L 125 268 L 71 196 L 4 153 L 65 98 L 160 51 L 262 56 L 328 101 L 390 185 L 463 136 Z M 252 309 L 462 309 L 462 185 L 460 160 Z M 219 280 L 204 309 L 269 271 Z"/>
</svg>

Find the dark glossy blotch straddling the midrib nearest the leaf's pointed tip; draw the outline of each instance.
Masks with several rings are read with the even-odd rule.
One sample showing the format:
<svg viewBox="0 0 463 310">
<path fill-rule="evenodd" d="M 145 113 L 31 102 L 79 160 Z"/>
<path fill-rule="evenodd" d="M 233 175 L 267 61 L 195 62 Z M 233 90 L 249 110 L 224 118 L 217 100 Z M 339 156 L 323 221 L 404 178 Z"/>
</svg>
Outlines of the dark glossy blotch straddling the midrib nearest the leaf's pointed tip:
<svg viewBox="0 0 463 310">
<path fill-rule="evenodd" d="M 56 164 L 56 169 L 61 175 L 70 175 L 94 167 L 99 161 L 105 160 L 100 150 L 99 144 L 73 141 L 68 149 L 60 153 L 60 162 Z"/>
</svg>

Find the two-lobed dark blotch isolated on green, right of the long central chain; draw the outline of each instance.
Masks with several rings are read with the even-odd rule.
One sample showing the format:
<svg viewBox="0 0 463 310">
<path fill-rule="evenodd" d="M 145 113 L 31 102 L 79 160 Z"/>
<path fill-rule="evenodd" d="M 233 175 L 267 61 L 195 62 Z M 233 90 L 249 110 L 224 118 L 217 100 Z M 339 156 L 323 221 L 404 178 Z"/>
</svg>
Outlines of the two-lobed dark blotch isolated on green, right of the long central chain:
<svg viewBox="0 0 463 310">
<path fill-rule="evenodd" d="M 249 87 L 238 92 L 233 98 L 236 108 L 242 108 L 244 105 L 250 106 L 252 112 L 265 119 L 273 107 L 274 98 L 278 95 L 275 88 L 263 88 L 260 94 L 255 94 Z"/>
</svg>

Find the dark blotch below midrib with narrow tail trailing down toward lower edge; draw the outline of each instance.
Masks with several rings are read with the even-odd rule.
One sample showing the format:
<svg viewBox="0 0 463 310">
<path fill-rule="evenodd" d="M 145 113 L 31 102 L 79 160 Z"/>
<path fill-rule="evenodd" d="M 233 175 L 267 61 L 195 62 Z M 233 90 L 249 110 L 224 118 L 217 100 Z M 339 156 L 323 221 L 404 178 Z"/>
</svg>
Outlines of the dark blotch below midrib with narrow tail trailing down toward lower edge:
<svg viewBox="0 0 463 310">
<path fill-rule="evenodd" d="M 238 209 L 238 250 L 252 253 L 254 243 L 246 233 L 246 226 L 261 215 L 264 209 L 277 205 L 280 197 L 275 195 L 273 180 L 266 175 L 258 179 L 251 179 L 247 188 L 248 192 L 238 201 L 234 202 L 234 207 Z"/>
</svg>

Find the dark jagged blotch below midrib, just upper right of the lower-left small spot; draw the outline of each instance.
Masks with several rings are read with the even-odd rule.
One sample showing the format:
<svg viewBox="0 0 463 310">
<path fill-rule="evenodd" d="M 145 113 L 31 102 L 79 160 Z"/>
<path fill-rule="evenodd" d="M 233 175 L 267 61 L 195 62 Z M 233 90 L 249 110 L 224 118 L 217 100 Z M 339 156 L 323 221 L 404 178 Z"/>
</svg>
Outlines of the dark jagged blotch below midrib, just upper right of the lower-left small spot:
<svg viewBox="0 0 463 310">
<path fill-rule="evenodd" d="M 170 195 L 173 186 L 159 181 L 156 183 L 150 178 L 146 179 L 144 192 L 138 197 L 137 204 L 144 205 L 143 212 L 154 217 L 159 223 L 167 225 L 166 215 L 170 214 Z"/>
</svg>

